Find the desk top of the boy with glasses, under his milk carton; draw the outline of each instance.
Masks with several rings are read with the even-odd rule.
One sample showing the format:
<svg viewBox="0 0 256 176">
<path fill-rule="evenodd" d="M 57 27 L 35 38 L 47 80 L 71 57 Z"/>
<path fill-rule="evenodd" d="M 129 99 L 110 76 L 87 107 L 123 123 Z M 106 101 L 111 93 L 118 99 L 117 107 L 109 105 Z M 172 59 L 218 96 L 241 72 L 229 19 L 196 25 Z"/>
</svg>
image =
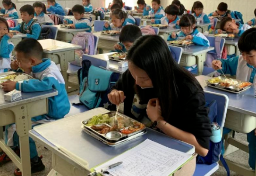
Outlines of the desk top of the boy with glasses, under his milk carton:
<svg viewBox="0 0 256 176">
<path fill-rule="evenodd" d="M 5 76 L 8 74 L 11 74 L 14 72 L 6 72 L 6 73 L 1 73 L 0 76 Z M 21 98 L 18 98 L 17 100 L 10 102 L 10 101 L 5 101 L 4 100 L 4 94 L 6 94 L 7 92 L 4 92 L 2 88 L 0 88 L 0 109 L 4 109 L 4 108 L 9 108 L 9 107 L 13 107 L 19 104 L 26 104 L 28 102 L 33 102 L 36 100 L 40 100 L 43 98 L 48 98 L 51 96 L 56 96 L 58 95 L 58 91 L 51 89 L 48 91 L 41 91 L 41 92 L 22 92 Z"/>
</svg>

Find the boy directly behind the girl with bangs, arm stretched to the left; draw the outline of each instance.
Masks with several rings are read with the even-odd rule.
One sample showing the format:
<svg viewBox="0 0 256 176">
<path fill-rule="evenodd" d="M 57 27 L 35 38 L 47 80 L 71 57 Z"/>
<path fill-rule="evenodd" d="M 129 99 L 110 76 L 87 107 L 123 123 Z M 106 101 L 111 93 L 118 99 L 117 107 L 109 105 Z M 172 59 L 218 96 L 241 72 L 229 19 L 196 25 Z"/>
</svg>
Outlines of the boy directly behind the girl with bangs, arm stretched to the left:
<svg viewBox="0 0 256 176">
<path fill-rule="evenodd" d="M 152 24 L 166 24 L 170 27 L 177 25 L 177 21 L 179 20 L 178 13 L 179 8 L 175 5 L 170 5 L 164 10 L 166 16 L 161 19 L 152 19 Z"/>
</svg>

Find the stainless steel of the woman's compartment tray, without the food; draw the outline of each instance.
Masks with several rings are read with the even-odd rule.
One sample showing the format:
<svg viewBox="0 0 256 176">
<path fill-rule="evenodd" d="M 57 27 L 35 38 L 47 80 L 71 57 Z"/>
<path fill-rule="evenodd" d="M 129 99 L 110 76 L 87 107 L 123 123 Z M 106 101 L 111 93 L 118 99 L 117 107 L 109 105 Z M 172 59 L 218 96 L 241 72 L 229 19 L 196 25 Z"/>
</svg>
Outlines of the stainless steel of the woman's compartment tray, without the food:
<svg viewBox="0 0 256 176">
<path fill-rule="evenodd" d="M 115 112 L 108 112 L 108 113 L 106 113 L 106 114 L 108 114 L 109 117 L 111 118 L 111 117 L 113 117 L 113 116 L 115 115 Z M 128 127 L 121 128 L 120 130 L 117 130 L 117 131 L 108 131 L 108 132 L 106 132 L 106 133 L 101 134 L 101 133 L 99 133 L 98 131 L 96 131 L 96 130 L 94 130 L 93 128 L 91 128 L 92 126 L 86 126 L 86 124 L 88 123 L 88 121 L 91 120 L 91 119 L 88 119 L 88 120 L 82 121 L 83 130 L 84 130 L 84 131 L 86 130 L 86 132 L 89 133 L 91 136 L 93 136 L 93 137 L 95 137 L 95 138 L 97 138 L 97 139 L 100 139 L 102 142 L 107 143 L 107 144 L 109 144 L 109 145 L 119 144 L 119 143 L 121 143 L 122 141 L 127 141 L 127 140 L 128 140 L 127 138 L 130 139 L 130 137 L 135 136 L 135 135 L 137 135 L 138 133 L 142 133 L 142 132 L 143 132 L 143 134 L 145 133 L 145 128 L 146 128 L 146 127 L 145 127 L 144 124 L 138 122 L 137 120 L 133 120 L 133 119 L 131 119 L 131 118 L 129 118 L 129 117 L 123 115 L 123 114 L 120 114 L 120 113 L 118 113 L 118 116 L 120 116 L 120 117 L 122 117 L 122 118 L 128 118 L 128 120 L 130 120 L 130 121 L 132 122 L 132 124 L 131 124 L 130 126 L 128 126 Z M 135 131 L 135 132 L 133 132 L 133 133 L 130 133 L 130 134 L 121 133 L 122 130 L 128 129 L 128 128 L 130 128 L 131 126 L 133 126 L 134 123 L 138 123 L 138 124 L 142 125 L 143 128 L 141 128 L 141 129 L 139 129 L 139 130 L 137 130 L 137 131 Z M 95 125 L 95 126 L 97 127 L 97 126 L 101 126 L 101 125 L 107 125 L 107 126 L 111 127 L 111 126 L 108 125 L 108 124 L 98 124 L 98 125 Z M 120 136 L 119 136 L 118 138 L 115 138 L 115 139 L 110 139 L 110 138 L 107 138 L 107 137 L 106 137 L 106 135 L 108 135 L 108 133 L 118 133 Z M 142 134 L 141 134 L 141 135 L 142 135 Z"/>
</svg>

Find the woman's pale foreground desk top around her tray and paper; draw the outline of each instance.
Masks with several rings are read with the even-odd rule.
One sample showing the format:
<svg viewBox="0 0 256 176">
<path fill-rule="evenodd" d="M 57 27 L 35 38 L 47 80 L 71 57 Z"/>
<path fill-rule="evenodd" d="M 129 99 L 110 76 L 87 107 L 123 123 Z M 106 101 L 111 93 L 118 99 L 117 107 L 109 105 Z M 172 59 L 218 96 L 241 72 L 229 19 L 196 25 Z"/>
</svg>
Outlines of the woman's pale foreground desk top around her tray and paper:
<svg viewBox="0 0 256 176">
<path fill-rule="evenodd" d="M 195 152 L 195 148 L 192 145 L 172 139 L 152 129 L 147 129 L 147 133 L 143 136 L 115 147 L 103 144 L 101 141 L 87 135 L 82 130 L 81 121 L 91 118 L 99 113 L 106 112 L 109 111 L 103 108 L 96 108 L 62 120 L 37 126 L 29 133 L 35 141 L 38 141 L 41 144 L 43 143 L 49 150 L 54 153 L 57 152 L 57 154 L 62 157 L 63 153 L 58 150 L 55 144 L 65 148 L 75 156 L 79 156 L 79 158 L 89 163 L 89 168 L 94 168 L 95 166 L 118 156 L 128 149 L 142 143 L 147 138 L 181 152 L 188 152 L 190 154 Z M 67 156 L 64 157 L 65 160 L 74 163 L 74 160 Z"/>
</svg>

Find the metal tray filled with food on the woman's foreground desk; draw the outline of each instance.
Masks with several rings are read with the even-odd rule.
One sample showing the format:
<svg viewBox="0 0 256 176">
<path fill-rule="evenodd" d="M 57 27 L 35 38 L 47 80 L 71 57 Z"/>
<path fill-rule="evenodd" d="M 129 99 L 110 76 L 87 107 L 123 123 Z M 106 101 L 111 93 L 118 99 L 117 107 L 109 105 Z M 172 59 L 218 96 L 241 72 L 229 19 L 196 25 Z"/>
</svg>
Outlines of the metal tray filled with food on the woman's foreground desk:
<svg viewBox="0 0 256 176">
<path fill-rule="evenodd" d="M 82 121 L 84 130 L 111 144 L 126 141 L 128 137 L 145 131 L 144 124 L 120 113 L 117 114 L 117 124 L 115 124 L 115 113 L 99 114 L 89 120 Z"/>
</svg>

